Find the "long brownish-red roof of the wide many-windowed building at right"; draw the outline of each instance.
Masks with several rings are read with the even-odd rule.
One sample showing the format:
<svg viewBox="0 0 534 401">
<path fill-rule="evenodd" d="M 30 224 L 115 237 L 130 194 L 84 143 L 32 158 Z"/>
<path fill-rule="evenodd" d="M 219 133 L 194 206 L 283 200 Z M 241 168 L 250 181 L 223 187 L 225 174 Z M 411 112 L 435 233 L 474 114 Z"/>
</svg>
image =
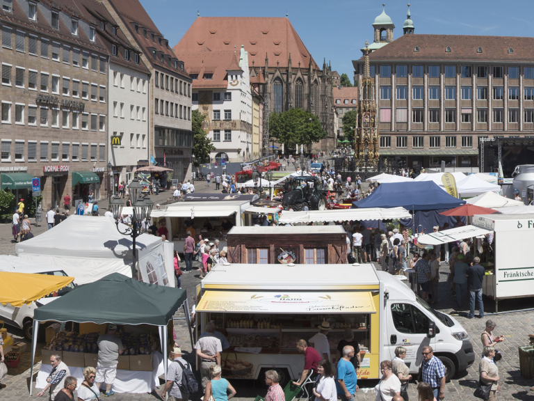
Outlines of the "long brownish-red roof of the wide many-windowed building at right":
<svg viewBox="0 0 534 401">
<path fill-rule="evenodd" d="M 415 47 L 419 52 L 414 52 Z M 446 52 L 451 47 L 451 52 Z M 478 47 L 482 53 L 477 53 Z M 513 49 L 509 54 L 508 49 Z M 528 61 L 534 58 L 534 38 L 516 36 L 403 35 L 369 54 L 371 60 Z"/>
</svg>

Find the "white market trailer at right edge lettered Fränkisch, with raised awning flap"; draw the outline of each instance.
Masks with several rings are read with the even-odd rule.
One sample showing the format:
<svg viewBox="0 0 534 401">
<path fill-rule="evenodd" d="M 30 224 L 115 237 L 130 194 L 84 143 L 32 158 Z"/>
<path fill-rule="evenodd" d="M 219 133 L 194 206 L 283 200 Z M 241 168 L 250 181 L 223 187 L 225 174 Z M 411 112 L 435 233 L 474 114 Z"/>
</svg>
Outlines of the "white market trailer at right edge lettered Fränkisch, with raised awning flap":
<svg viewBox="0 0 534 401">
<path fill-rule="evenodd" d="M 501 299 L 534 297 L 534 265 L 528 252 L 534 243 L 534 214 L 475 215 L 469 226 L 421 235 L 417 241 L 439 245 L 486 235 L 493 236 L 493 256 L 476 253 L 486 269 L 483 294 L 495 300 L 495 310 L 499 311 Z"/>
</svg>

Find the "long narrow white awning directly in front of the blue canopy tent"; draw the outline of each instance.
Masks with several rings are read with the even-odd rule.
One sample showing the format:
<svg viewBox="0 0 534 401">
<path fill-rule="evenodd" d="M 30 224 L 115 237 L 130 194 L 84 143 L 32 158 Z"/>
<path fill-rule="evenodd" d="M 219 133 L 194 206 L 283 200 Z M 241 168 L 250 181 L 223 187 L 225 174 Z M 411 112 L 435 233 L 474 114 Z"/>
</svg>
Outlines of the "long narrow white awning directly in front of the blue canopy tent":
<svg viewBox="0 0 534 401">
<path fill-rule="evenodd" d="M 366 209 L 308 210 L 307 212 L 282 211 L 280 223 L 310 223 L 317 221 L 389 220 L 407 219 L 412 215 L 404 207 L 369 207 Z"/>
</svg>

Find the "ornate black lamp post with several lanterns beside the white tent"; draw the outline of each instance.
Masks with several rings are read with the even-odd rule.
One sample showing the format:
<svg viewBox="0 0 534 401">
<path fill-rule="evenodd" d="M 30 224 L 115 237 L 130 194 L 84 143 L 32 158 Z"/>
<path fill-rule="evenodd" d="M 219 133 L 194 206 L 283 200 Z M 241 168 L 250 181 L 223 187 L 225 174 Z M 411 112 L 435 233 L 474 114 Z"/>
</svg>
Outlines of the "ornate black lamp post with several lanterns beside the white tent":
<svg viewBox="0 0 534 401">
<path fill-rule="evenodd" d="M 132 278 L 137 277 L 137 249 L 136 249 L 136 238 L 141 234 L 141 225 L 144 221 L 150 221 L 150 214 L 152 213 L 152 207 L 154 203 L 149 199 L 148 196 L 139 198 L 143 186 L 139 183 L 137 178 L 134 178 L 132 182 L 128 185 L 128 191 L 131 198 L 131 205 L 133 207 L 133 216 L 131 219 L 131 227 L 121 231 L 119 229 L 119 219 L 122 216 L 122 199 L 120 196 L 113 196 L 111 201 L 111 210 L 113 211 L 113 219 L 115 219 L 115 226 L 117 230 L 122 235 L 129 235 L 132 239 L 133 247 L 133 263 L 131 265 L 131 276 Z"/>
</svg>

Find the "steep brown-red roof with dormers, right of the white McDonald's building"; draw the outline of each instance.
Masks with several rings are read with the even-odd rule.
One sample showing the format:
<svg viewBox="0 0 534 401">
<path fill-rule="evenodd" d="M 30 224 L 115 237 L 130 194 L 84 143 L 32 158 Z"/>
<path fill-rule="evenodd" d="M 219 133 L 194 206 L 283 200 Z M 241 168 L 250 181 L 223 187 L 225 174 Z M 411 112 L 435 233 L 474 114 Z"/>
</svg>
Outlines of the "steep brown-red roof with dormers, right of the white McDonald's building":
<svg viewBox="0 0 534 401">
<path fill-rule="evenodd" d="M 175 58 L 178 60 L 177 55 L 168 46 L 167 40 L 163 38 L 163 35 L 139 0 L 109 0 L 109 3 L 111 3 L 115 11 L 120 15 L 133 38 L 136 38 L 138 46 L 143 49 L 143 53 L 145 53 L 147 59 L 153 66 L 159 66 L 168 71 L 175 72 L 182 77 L 189 78 L 188 74 L 181 70 L 180 63 L 178 63 L 178 68 L 175 68 L 172 59 Z M 134 15 L 135 17 L 133 17 Z M 138 24 L 137 32 L 135 24 Z M 147 29 L 146 38 L 143 33 L 143 28 Z M 154 40 L 152 40 L 152 33 L 154 33 Z M 159 38 L 161 38 L 161 44 Z M 156 52 L 155 58 L 152 53 L 153 50 Z M 164 61 L 161 61 L 161 53 L 164 55 Z"/>
</svg>

